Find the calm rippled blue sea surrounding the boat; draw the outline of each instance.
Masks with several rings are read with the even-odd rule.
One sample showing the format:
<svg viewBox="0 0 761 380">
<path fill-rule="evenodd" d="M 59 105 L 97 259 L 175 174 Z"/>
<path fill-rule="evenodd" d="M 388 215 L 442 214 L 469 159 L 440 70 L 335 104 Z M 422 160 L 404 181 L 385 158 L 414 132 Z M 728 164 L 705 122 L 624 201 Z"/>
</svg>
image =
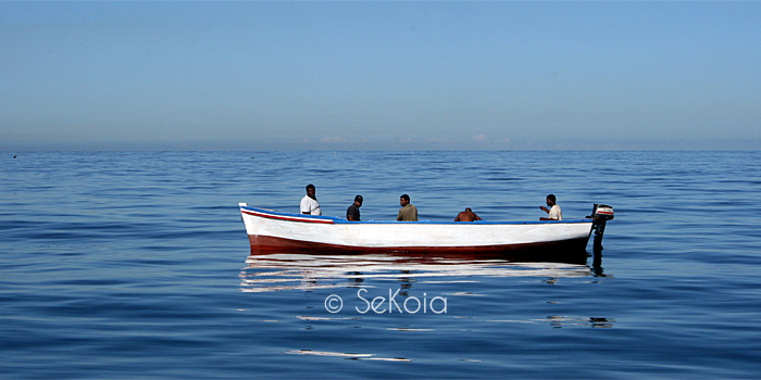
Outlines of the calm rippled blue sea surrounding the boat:
<svg viewBox="0 0 761 380">
<path fill-rule="evenodd" d="M 0 162 L 2 379 L 761 372 L 760 152 L 22 152 Z M 595 202 L 616 214 L 599 266 L 249 257 L 238 202 L 297 212 L 310 182 L 326 215 L 362 194 L 363 219 L 394 218 L 401 193 L 429 220 L 464 207 L 535 220 L 547 193 L 565 218 Z M 342 308 L 329 313 L 336 297 Z"/>
</svg>

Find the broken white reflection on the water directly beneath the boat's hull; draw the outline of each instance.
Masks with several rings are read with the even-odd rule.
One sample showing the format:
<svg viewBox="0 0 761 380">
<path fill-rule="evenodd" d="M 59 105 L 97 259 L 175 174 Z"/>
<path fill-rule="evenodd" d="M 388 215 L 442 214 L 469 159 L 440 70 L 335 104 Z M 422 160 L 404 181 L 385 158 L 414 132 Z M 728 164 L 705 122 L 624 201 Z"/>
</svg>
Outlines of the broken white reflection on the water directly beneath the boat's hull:
<svg viewBox="0 0 761 380">
<path fill-rule="evenodd" d="M 370 280 L 395 280 L 402 289 L 413 282 L 477 282 L 479 277 L 596 276 L 584 263 L 516 263 L 469 256 L 421 257 L 395 254 L 313 255 L 251 254 L 240 273 L 244 292 L 363 287 Z M 407 286 L 406 286 L 407 284 Z"/>
</svg>

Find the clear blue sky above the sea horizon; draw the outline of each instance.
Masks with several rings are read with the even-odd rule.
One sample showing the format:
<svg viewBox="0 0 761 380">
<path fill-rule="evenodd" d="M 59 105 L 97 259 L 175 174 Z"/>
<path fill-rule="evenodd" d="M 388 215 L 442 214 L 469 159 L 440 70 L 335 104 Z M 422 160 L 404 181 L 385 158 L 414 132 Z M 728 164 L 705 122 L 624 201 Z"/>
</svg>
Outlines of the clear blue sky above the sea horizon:
<svg viewBox="0 0 761 380">
<path fill-rule="evenodd" d="M 0 150 L 761 149 L 761 2 L 1 2 Z"/>
</svg>

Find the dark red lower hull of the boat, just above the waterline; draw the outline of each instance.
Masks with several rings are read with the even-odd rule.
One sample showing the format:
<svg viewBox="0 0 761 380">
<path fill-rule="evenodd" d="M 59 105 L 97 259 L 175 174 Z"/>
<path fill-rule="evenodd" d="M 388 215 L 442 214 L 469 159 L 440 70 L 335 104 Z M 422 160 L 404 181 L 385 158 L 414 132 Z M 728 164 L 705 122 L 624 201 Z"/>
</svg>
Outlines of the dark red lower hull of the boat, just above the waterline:
<svg viewBox="0 0 761 380">
<path fill-rule="evenodd" d="M 324 244 L 283 238 L 249 236 L 251 254 L 301 253 L 301 254 L 376 254 L 390 253 L 410 256 L 467 256 L 473 258 L 512 258 L 529 262 L 561 262 L 585 264 L 589 238 L 579 238 L 546 243 L 478 246 L 395 246 L 366 248 Z"/>
</svg>

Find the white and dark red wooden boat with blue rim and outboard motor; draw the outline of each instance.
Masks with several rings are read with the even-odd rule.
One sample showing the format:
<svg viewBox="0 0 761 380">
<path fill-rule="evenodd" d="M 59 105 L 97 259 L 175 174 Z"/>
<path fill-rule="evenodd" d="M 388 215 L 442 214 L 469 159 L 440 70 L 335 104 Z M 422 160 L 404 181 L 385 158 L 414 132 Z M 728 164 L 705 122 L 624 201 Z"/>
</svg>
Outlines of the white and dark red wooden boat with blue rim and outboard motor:
<svg viewBox="0 0 761 380">
<path fill-rule="evenodd" d="M 584 219 L 539 221 L 349 221 L 239 203 L 251 253 L 467 255 L 527 261 L 586 261 L 595 233 L 601 250 L 613 208 L 595 204 Z M 582 256 L 583 255 L 583 256 Z"/>
</svg>

